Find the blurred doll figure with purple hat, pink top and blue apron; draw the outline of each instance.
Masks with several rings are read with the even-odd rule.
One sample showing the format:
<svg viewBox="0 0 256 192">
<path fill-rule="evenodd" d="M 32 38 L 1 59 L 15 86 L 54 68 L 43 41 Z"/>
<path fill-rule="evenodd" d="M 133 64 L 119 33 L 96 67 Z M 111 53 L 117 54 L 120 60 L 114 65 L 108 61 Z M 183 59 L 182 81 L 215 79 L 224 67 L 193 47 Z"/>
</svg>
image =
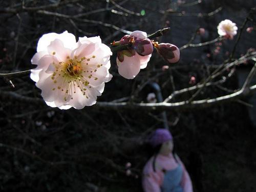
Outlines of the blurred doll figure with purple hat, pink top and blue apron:
<svg viewBox="0 0 256 192">
<path fill-rule="evenodd" d="M 142 186 L 145 192 L 193 192 L 187 170 L 173 153 L 172 134 L 157 129 L 150 138 L 155 153 L 143 169 Z"/>
</svg>

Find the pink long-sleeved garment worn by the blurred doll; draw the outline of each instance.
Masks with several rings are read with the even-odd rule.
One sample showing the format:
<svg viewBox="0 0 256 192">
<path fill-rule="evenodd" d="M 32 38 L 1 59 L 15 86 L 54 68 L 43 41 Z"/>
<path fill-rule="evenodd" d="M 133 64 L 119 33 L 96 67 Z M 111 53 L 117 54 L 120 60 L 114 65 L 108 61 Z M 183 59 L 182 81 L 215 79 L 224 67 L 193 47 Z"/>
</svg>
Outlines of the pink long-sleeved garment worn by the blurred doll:
<svg viewBox="0 0 256 192">
<path fill-rule="evenodd" d="M 183 192 L 193 192 L 192 183 L 184 164 L 177 156 L 178 163 L 182 165 L 183 175 L 181 179 L 181 187 Z M 145 192 L 161 192 L 161 185 L 164 179 L 164 170 L 172 170 L 178 167 L 173 154 L 170 153 L 168 156 L 157 155 L 155 161 L 156 171 L 153 170 L 153 157 L 147 161 L 143 169 L 142 186 Z"/>
</svg>

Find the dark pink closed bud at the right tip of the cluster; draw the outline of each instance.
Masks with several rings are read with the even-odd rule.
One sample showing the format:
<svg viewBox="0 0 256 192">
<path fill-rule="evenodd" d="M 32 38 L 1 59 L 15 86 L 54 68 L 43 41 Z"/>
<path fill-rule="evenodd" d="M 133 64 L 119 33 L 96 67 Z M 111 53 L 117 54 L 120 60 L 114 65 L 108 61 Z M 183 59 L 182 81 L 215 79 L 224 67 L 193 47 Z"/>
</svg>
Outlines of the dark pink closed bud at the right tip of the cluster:
<svg viewBox="0 0 256 192">
<path fill-rule="evenodd" d="M 180 50 L 173 44 L 159 44 L 155 46 L 157 52 L 163 59 L 169 63 L 178 62 L 180 59 Z"/>
</svg>

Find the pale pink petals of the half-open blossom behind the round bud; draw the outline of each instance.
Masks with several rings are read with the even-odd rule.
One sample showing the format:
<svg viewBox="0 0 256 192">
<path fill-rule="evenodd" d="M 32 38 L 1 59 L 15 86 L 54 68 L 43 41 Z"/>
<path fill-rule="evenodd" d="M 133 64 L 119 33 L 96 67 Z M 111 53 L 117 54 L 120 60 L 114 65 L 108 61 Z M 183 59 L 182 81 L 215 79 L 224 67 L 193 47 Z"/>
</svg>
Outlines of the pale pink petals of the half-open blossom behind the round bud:
<svg viewBox="0 0 256 192">
<path fill-rule="evenodd" d="M 146 38 L 147 34 L 143 31 L 134 31 L 130 34 L 131 36 L 137 38 Z M 123 60 L 120 61 L 119 58 L 116 58 L 118 73 L 126 79 L 133 79 L 140 69 L 144 69 L 147 66 L 147 62 L 150 60 L 152 54 L 141 56 L 137 52 L 134 55 L 123 55 Z"/>
</svg>

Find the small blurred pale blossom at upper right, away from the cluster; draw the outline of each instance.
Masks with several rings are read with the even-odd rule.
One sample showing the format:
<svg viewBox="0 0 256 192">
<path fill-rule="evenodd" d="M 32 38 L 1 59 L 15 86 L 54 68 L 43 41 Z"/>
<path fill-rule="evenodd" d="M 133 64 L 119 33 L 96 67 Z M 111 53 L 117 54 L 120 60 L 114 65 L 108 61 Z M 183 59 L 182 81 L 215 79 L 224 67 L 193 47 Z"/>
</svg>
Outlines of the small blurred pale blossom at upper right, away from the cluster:
<svg viewBox="0 0 256 192">
<path fill-rule="evenodd" d="M 237 34 L 237 24 L 231 22 L 229 19 L 222 20 L 219 23 L 217 29 L 220 36 L 224 36 L 228 39 L 233 39 L 233 36 Z"/>
</svg>

